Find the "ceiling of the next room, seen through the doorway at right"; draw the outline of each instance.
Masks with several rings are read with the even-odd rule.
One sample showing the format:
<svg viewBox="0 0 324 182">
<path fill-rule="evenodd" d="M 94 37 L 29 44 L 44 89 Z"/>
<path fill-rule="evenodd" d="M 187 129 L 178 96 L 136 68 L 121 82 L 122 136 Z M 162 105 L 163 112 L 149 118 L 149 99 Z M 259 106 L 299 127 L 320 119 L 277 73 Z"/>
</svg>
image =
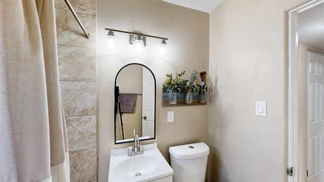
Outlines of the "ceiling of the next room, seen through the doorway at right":
<svg viewBox="0 0 324 182">
<path fill-rule="evenodd" d="M 324 4 L 298 14 L 299 42 L 324 50 Z"/>
</svg>

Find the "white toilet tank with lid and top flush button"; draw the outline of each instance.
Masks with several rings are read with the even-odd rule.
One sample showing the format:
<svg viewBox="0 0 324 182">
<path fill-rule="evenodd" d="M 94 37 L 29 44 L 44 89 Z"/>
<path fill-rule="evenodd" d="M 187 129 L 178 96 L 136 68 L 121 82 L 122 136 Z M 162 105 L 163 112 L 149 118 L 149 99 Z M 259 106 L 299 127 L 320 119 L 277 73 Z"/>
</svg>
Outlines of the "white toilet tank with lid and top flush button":
<svg viewBox="0 0 324 182">
<path fill-rule="evenodd" d="M 169 148 L 174 182 L 204 182 L 209 147 L 194 143 Z"/>
</svg>

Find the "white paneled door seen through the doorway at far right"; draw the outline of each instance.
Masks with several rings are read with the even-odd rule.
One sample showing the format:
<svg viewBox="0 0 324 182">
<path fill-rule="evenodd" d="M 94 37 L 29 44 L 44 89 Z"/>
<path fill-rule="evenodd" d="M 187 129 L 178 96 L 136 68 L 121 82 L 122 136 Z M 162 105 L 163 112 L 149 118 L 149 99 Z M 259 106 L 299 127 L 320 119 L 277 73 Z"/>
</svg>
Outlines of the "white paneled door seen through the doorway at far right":
<svg viewBox="0 0 324 182">
<path fill-rule="evenodd" d="M 307 52 L 308 182 L 324 181 L 324 56 Z"/>
</svg>

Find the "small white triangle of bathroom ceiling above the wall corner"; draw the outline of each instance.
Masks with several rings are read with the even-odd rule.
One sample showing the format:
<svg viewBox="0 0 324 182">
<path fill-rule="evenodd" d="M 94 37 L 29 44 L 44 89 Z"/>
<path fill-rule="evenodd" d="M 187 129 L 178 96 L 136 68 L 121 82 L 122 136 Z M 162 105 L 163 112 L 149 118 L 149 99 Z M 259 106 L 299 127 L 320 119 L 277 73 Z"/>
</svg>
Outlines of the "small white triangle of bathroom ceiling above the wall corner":
<svg viewBox="0 0 324 182">
<path fill-rule="evenodd" d="M 206 13 L 211 13 L 224 0 L 162 0 L 162 1 L 183 6 L 186 8 L 206 12 Z"/>
</svg>

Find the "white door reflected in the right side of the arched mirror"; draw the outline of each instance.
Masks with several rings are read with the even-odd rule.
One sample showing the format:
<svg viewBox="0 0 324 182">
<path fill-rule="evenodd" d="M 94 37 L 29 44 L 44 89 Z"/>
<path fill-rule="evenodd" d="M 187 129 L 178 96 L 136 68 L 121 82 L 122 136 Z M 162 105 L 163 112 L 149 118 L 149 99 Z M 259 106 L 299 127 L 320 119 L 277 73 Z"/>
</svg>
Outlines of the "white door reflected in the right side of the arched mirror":
<svg viewBox="0 0 324 182">
<path fill-rule="evenodd" d="M 149 138 L 154 138 L 154 89 L 154 77 L 147 68 L 143 67 L 142 136 Z"/>
</svg>

